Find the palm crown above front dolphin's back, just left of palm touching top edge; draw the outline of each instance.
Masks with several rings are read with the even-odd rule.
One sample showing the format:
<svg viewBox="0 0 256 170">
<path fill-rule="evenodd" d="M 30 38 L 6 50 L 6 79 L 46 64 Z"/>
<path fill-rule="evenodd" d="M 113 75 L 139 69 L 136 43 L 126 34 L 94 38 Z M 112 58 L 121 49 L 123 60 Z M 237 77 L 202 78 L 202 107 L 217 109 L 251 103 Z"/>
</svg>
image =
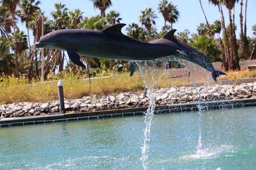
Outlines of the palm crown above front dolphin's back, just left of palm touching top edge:
<svg viewBox="0 0 256 170">
<path fill-rule="evenodd" d="M 81 12 L 79 9 L 75 9 L 75 11 L 69 12 L 69 28 L 79 28 L 79 24 L 84 19 L 82 14 L 84 14 L 84 12 Z"/>
</svg>

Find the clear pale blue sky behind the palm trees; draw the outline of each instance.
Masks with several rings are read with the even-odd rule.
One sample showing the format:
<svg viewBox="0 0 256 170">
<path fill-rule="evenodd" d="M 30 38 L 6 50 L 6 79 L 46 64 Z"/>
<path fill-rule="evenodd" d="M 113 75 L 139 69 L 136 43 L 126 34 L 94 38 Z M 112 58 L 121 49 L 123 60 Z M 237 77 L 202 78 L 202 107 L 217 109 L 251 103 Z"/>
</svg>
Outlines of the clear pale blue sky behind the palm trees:
<svg viewBox="0 0 256 170">
<path fill-rule="evenodd" d="M 215 20 L 220 19 L 218 15 L 218 8 L 209 4 L 208 0 L 201 0 L 202 5 L 204 7 L 205 13 L 209 20 L 209 23 L 213 23 Z M 245 1 L 245 0 L 244 0 Z M 40 8 L 45 11 L 45 16 L 50 16 L 51 11 L 54 11 L 55 3 L 63 3 L 69 10 L 74 10 L 75 8 L 79 8 L 82 12 L 84 12 L 84 16 L 90 17 L 94 15 L 100 14 L 100 10 L 93 8 L 93 3 L 89 0 L 63 0 L 63 1 L 55 1 L 55 0 L 41 0 Z M 164 19 L 161 14 L 159 14 L 157 7 L 160 1 L 158 0 L 112 0 L 112 6 L 106 11 L 106 14 L 110 10 L 115 10 L 120 12 L 122 23 L 130 24 L 132 22 L 139 23 L 139 15 L 141 15 L 141 11 L 145 8 L 151 7 L 155 14 L 158 15 L 158 19 L 156 19 L 155 27 L 160 31 L 162 26 L 164 25 Z M 177 32 L 184 31 L 184 29 L 189 29 L 191 33 L 196 33 L 196 27 L 200 23 L 205 23 L 203 12 L 201 11 L 199 0 L 172 0 L 169 2 L 174 3 L 177 6 L 177 9 L 180 11 L 180 18 L 176 24 L 174 24 L 174 28 L 177 29 Z M 253 36 L 251 27 L 256 24 L 256 1 L 248 0 L 247 6 L 247 36 Z M 225 7 L 224 7 L 225 9 Z M 237 37 L 240 32 L 240 23 L 239 23 L 239 13 L 240 13 L 240 3 L 236 4 L 236 20 L 237 24 Z M 243 10 L 244 11 L 244 10 Z M 225 22 L 229 23 L 228 12 L 226 9 L 225 12 Z M 22 26 L 24 29 L 24 25 Z M 24 29 L 26 30 L 26 29 Z M 125 33 L 125 29 L 122 29 L 122 32 Z"/>
</svg>

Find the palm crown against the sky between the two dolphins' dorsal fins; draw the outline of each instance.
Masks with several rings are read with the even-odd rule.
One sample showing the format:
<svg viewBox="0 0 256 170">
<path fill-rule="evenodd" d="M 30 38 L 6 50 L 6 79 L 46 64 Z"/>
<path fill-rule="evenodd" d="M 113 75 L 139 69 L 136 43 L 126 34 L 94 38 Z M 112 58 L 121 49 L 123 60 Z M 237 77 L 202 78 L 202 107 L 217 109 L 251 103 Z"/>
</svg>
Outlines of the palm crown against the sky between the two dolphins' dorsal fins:
<svg viewBox="0 0 256 170">
<path fill-rule="evenodd" d="M 141 12 L 142 15 L 139 16 L 139 22 L 141 22 L 142 25 L 145 25 L 147 31 L 151 35 L 152 24 L 155 25 L 155 19 L 158 17 L 154 14 L 155 11 L 152 11 L 152 8 L 146 8 L 146 10 Z"/>
</svg>

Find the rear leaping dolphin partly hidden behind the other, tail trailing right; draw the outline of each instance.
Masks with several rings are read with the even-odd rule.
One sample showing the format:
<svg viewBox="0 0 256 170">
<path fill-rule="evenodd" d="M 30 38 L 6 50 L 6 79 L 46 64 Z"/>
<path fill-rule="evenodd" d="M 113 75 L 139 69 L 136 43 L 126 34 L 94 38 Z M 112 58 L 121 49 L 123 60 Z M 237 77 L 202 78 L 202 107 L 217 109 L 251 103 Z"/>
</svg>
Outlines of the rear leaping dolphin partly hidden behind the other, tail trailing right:
<svg viewBox="0 0 256 170">
<path fill-rule="evenodd" d="M 208 57 L 205 57 L 204 54 L 200 53 L 198 50 L 192 48 L 188 44 L 185 44 L 184 42 L 181 42 L 174 37 L 174 33 L 176 32 L 176 29 L 172 29 L 169 31 L 165 36 L 163 36 L 162 39 L 153 40 L 150 41 L 150 44 L 166 44 L 170 45 L 171 48 L 177 48 L 177 52 L 172 54 L 171 57 L 168 57 L 169 60 L 187 60 L 189 62 L 195 63 L 196 65 L 199 65 L 203 67 L 204 69 L 210 71 L 212 74 L 212 78 L 214 81 L 217 80 L 218 76 L 220 75 L 226 75 L 225 73 L 222 73 L 221 71 L 215 70 L 212 62 Z M 130 75 L 133 75 L 135 70 L 138 68 L 138 66 L 135 64 L 135 62 L 129 62 L 129 70 Z"/>
</svg>

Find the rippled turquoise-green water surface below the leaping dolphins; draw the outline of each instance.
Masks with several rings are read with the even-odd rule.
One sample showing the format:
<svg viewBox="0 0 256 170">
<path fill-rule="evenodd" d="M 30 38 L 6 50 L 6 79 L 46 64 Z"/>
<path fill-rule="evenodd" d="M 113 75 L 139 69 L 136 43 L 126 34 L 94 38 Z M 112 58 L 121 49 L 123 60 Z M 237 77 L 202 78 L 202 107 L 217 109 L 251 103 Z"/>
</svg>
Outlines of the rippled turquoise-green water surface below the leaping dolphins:
<svg viewBox="0 0 256 170">
<path fill-rule="evenodd" d="M 255 169 L 255 107 L 156 114 L 148 169 Z M 0 169 L 143 169 L 144 117 L 0 129 Z"/>
</svg>

